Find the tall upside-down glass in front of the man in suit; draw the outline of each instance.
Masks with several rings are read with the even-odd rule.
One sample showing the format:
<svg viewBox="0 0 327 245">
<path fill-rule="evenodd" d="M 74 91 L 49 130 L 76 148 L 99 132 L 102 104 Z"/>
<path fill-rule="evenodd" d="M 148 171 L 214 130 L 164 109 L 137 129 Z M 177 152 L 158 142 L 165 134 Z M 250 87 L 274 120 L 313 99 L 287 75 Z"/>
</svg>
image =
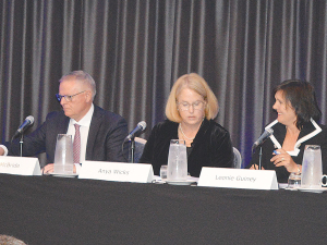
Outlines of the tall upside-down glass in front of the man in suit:
<svg viewBox="0 0 327 245">
<path fill-rule="evenodd" d="M 72 135 L 58 134 L 55 151 L 55 173 L 73 174 L 73 143 Z"/>
</svg>

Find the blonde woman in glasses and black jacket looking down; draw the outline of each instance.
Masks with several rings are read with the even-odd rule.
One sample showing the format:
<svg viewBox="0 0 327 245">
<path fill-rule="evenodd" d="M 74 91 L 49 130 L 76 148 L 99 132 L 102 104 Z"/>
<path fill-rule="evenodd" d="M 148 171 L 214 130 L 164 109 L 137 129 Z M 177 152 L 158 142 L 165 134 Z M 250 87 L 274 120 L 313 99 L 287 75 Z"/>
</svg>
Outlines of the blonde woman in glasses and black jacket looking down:
<svg viewBox="0 0 327 245">
<path fill-rule="evenodd" d="M 195 73 L 178 78 L 171 88 L 167 120 L 154 126 L 140 162 L 152 163 L 159 175 L 167 164 L 170 139 L 184 139 L 187 171 L 199 176 L 202 167 L 231 168 L 232 144 L 227 130 L 214 121 L 218 101 L 203 77 Z"/>
</svg>

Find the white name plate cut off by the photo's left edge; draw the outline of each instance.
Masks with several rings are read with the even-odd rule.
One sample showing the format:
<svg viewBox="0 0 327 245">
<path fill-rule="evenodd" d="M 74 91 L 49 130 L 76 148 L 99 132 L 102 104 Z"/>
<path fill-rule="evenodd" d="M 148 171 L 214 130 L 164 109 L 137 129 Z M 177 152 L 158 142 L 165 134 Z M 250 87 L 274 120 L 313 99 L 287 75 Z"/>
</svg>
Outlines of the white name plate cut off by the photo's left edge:
<svg viewBox="0 0 327 245">
<path fill-rule="evenodd" d="M 0 157 L 0 173 L 41 175 L 37 158 Z"/>
</svg>

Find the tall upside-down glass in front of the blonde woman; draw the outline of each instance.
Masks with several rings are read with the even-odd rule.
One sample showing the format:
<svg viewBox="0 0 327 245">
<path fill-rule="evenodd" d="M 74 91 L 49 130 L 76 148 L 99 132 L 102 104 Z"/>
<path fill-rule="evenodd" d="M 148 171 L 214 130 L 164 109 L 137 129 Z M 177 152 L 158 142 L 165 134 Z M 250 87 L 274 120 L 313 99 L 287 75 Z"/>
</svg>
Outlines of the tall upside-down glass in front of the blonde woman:
<svg viewBox="0 0 327 245">
<path fill-rule="evenodd" d="M 187 155 L 183 139 L 171 139 L 168 154 L 168 181 L 186 181 Z"/>
</svg>

